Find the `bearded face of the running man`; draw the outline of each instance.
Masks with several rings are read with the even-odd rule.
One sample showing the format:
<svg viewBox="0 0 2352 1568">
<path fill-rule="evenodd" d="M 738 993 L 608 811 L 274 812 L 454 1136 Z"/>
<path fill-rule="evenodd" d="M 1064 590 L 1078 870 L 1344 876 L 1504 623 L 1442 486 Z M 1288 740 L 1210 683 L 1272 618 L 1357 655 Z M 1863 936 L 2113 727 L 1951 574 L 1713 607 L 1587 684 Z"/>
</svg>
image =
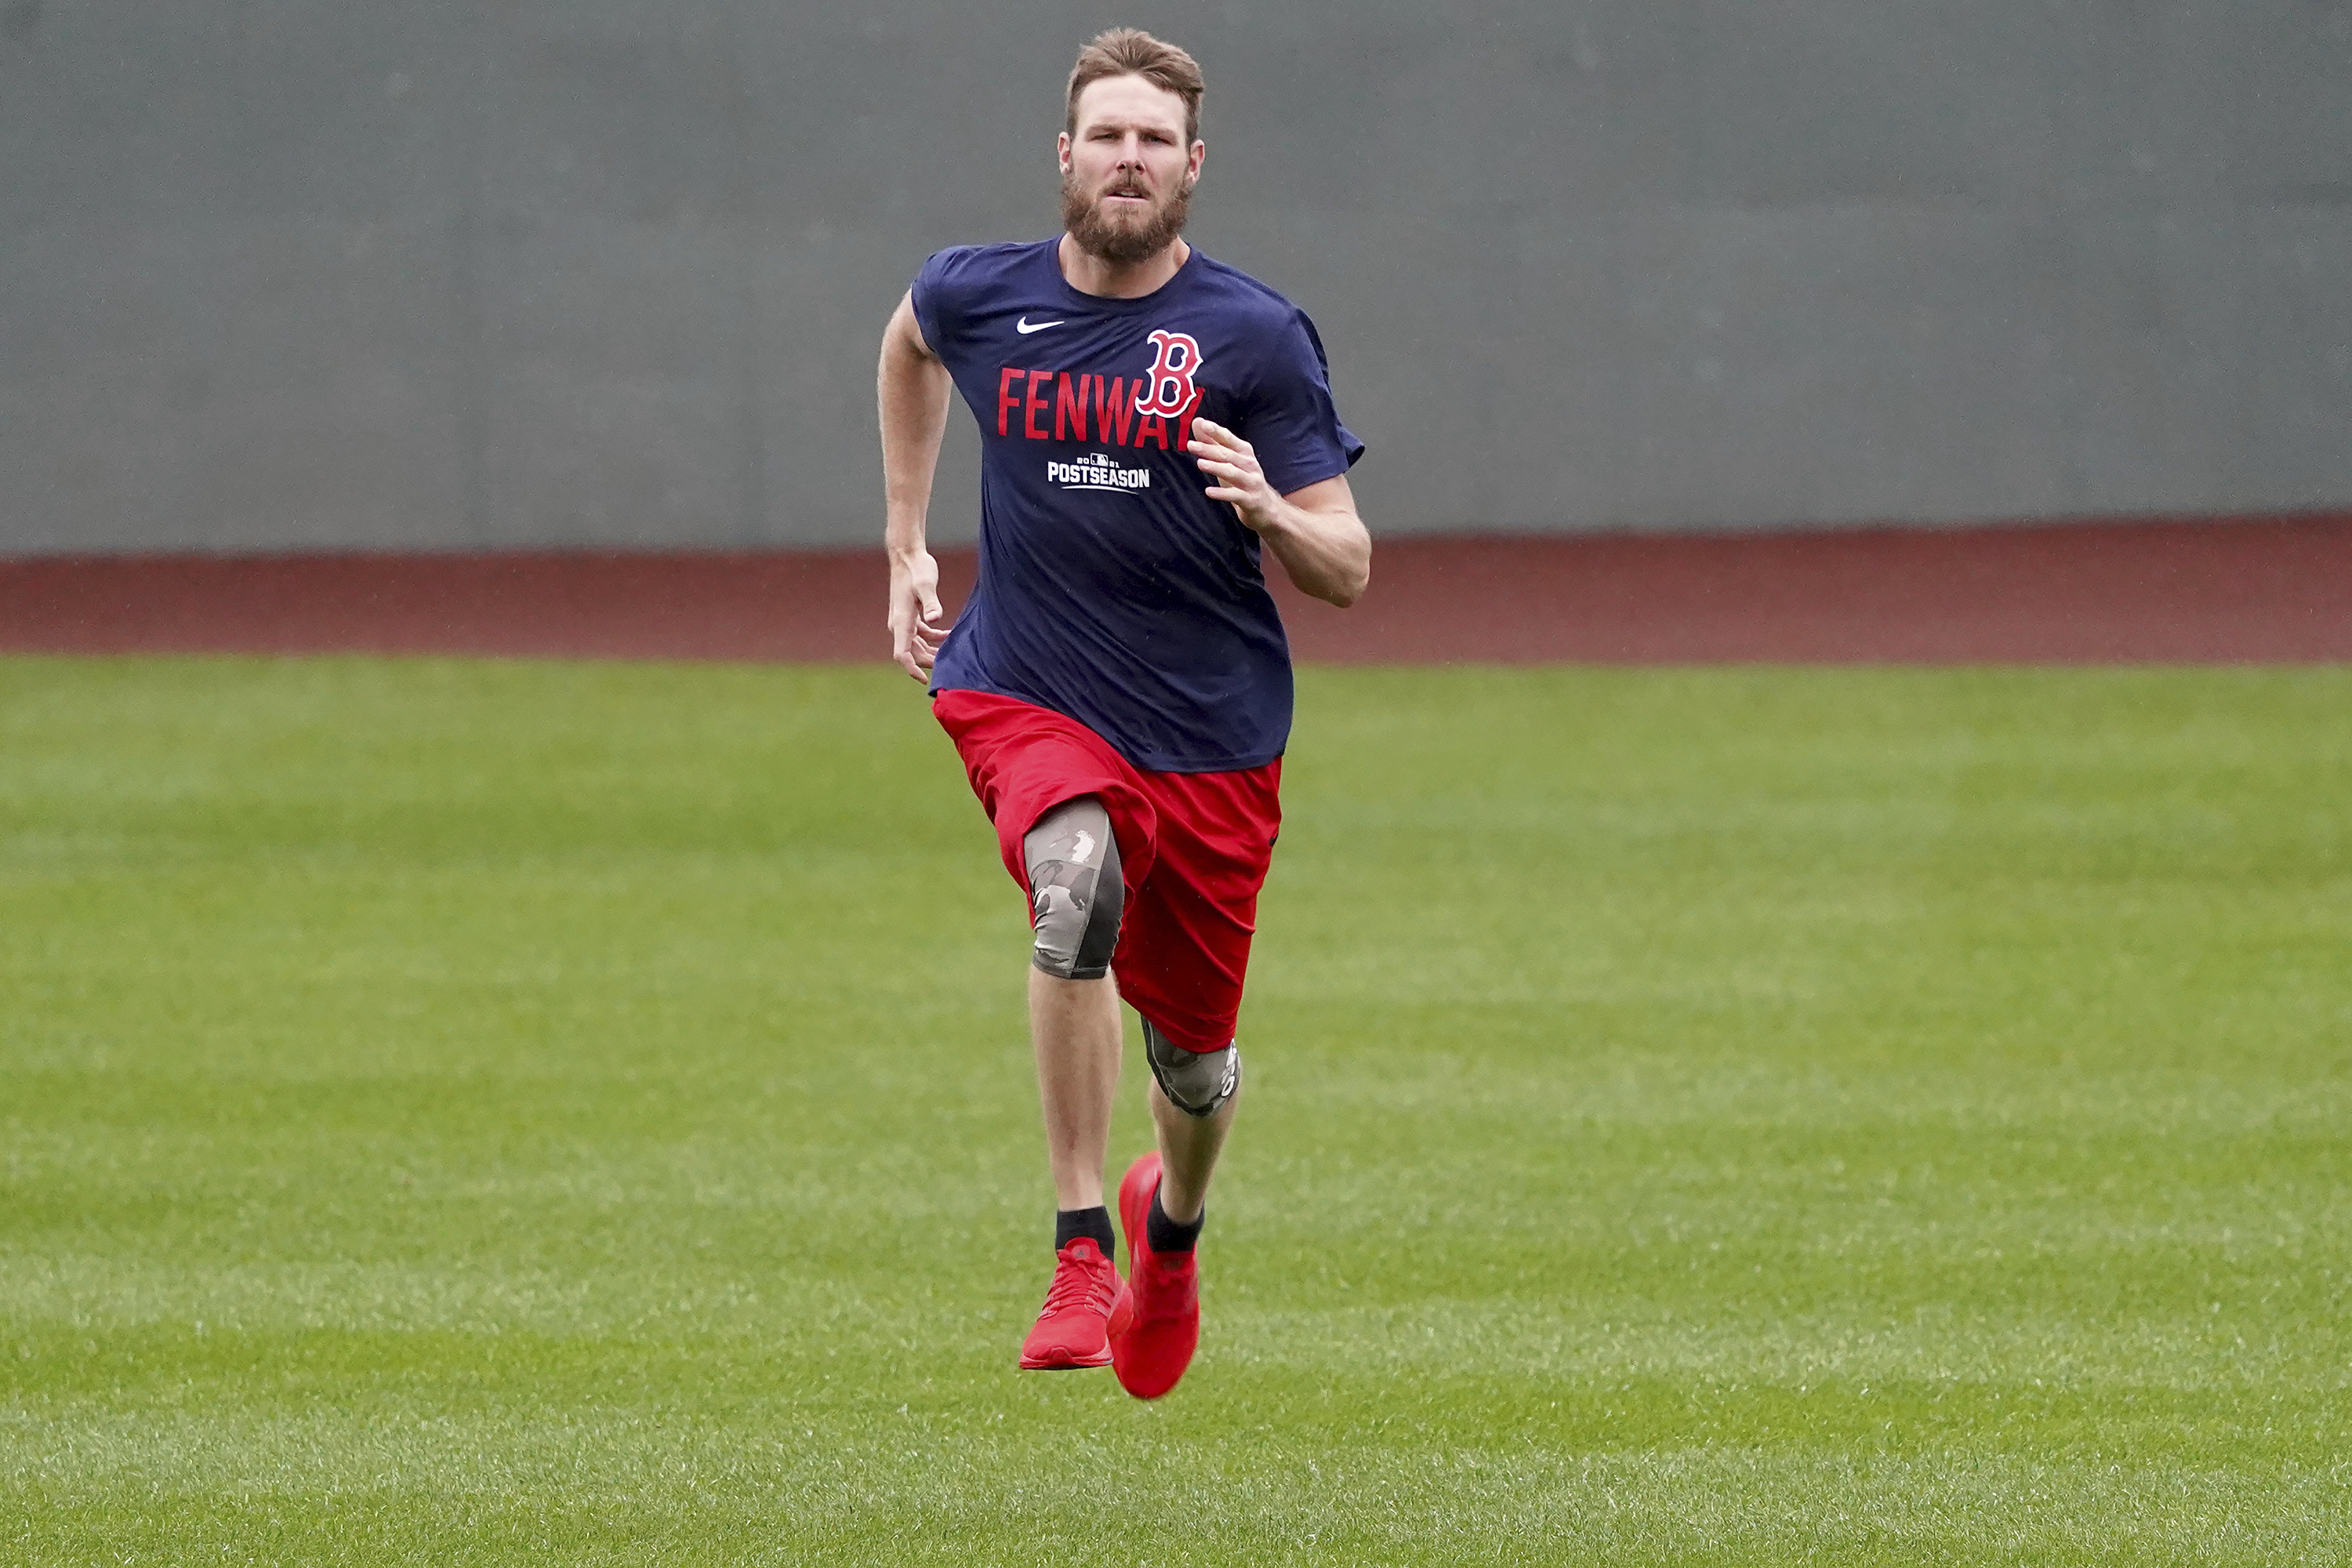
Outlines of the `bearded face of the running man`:
<svg viewBox="0 0 2352 1568">
<path fill-rule="evenodd" d="M 1077 247 L 1134 263 L 1167 249 L 1190 216 L 1207 148 L 1183 141 L 1183 99 L 1141 75 L 1108 75 L 1077 94 L 1077 132 L 1061 136 L 1061 221 Z"/>
</svg>

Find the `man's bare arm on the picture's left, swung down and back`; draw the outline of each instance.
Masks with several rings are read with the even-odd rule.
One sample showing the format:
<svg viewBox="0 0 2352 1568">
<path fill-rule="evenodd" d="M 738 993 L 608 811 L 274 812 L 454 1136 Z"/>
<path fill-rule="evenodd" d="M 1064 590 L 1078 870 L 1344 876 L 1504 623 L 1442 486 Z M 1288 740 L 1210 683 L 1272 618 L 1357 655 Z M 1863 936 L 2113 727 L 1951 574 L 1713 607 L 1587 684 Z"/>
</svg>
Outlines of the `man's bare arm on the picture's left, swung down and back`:
<svg viewBox="0 0 2352 1568">
<path fill-rule="evenodd" d="M 924 541 L 931 510 L 931 473 L 938 442 L 948 433 L 948 397 L 955 378 L 915 322 L 908 292 L 882 329 L 882 369 L 875 400 L 882 409 L 882 543 L 889 550 L 889 651 L 920 682 L 931 675 L 938 644 L 948 637 L 938 609 L 938 562 Z"/>
</svg>

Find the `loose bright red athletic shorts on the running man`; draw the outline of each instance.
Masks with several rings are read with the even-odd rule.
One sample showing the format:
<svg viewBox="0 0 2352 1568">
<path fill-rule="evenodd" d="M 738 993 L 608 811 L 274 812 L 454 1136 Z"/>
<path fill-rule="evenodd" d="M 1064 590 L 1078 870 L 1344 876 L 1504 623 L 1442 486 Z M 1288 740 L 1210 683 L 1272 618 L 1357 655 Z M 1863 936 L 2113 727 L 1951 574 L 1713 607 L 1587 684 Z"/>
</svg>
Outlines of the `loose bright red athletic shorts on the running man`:
<svg viewBox="0 0 2352 1568">
<path fill-rule="evenodd" d="M 964 759 L 1023 900 L 1021 839 L 1037 818 L 1080 795 L 1103 802 L 1127 879 L 1110 954 L 1120 997 L 1178 1046 L 1223 1051 L 1282 827 L 1282 759 L 1232 773 L 1150 773 L 1077 719 L 1009 696 L 941 691 L 931 712 Z"/>
</svg>

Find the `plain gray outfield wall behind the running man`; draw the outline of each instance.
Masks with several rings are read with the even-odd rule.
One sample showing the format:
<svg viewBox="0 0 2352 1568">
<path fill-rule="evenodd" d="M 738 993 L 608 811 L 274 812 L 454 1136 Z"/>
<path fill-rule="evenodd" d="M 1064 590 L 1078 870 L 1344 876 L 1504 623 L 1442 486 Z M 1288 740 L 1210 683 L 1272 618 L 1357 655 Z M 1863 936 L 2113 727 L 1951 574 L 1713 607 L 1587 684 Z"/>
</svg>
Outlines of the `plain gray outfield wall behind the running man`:
<svg viewBox="0 0 2352 1568">
<path fill-rule="evenodd" d="M 2352 0 L 0 0 L 0 552 L 873 538 L 1110 21 L 1378 529 L 2352 503 Z"/>
</svg>

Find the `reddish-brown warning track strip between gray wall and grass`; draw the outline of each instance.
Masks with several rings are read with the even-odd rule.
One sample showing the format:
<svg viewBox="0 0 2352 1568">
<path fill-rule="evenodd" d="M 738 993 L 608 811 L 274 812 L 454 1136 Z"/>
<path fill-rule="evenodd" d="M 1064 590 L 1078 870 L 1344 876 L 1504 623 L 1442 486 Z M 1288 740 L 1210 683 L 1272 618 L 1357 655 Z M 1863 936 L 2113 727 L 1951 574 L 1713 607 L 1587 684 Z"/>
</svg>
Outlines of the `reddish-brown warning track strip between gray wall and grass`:
<svg viewBox="0 0 2352 1568">
<path fill-rule="evenodd" d="M 950 604 L 969 550 L 941 555 Z M 1272 574 L 1279 578 L 1279 571 Z M 0 649 L 880 661 L 880 550 L 0 559 Z M 2352 661 L 2352 515 L 1399 538 L 1334 663 Z"/>
</svg>

